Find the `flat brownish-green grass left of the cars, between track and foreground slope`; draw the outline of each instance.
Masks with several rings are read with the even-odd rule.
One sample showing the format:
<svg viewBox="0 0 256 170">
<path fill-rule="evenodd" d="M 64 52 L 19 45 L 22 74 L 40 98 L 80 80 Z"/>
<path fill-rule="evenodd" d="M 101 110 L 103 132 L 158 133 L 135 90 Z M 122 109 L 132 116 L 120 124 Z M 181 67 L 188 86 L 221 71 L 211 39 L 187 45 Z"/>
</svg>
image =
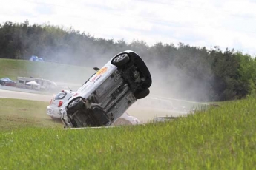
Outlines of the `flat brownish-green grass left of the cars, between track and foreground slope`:
<svg viewBox="0 0 256 170">
<path fill-rule="evenodd" d="M 46 115 L 48 104 L 42 101 L 0 98 L 1 132 L 24 127 L 61 127 L 60 122 Z"/>
</svg>

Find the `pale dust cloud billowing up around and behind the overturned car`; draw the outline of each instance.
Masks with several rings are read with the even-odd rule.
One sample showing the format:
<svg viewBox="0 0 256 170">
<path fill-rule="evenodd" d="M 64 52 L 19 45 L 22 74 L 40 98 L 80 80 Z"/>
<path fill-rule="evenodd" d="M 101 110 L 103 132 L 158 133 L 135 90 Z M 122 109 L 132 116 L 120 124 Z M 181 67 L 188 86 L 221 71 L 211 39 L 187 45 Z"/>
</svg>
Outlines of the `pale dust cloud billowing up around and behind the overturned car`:
<svg viewBox="0 0 256 170">
<path fill-rule="evenodd" d="M 102 67 L 114 55 L 119 52 L 131 49 L 108 49 L 102 50 L 102 47 L 93 47 L 91 44 L 83 44 L 86 50 L 76 51 L 67 47 L 59 47 L 52 50 L 49 56 L 43 56 L 45 61 L 51 63 L 67 64 L 63 67 L 50 68 L 47 77 L 61 86 L 62 89 L 72 89 L 76 91 L 79 86 L 93 75 L 93 67 Z M 81 48 L 79 48 L 81 49 Z M 134 50 L 134 52 L 137 52 Z M 209 86 L 211 78 L 202 78 L 200 81 L 191 78 L 183 69 L 175 64 L 167 65 L 165 61 L 151 56 L 143 56 L 137 52 L 145 61 L 151 72 L 152 86 L 151 94 L 147 98 L 137 101 L 128 109 L 131 115 L 147 120 L 155 116 L 186 114 L 194 108 L 194 103 L 186 101 L 208 101 Z M 145 52 L 146 53 L 146 52 Z M 79 56 L 75 57 L 74 56 Z M 188 61 L 187 61 L 188 62 Z M 79 64 L 79 67 L 73 65 Z M 188 63 L 189 65 L 189 63 Z M 50 74 L 50 75 L 49 75 Z M 168 112 L 167 112 L 168 111 Z M 146 115 L 146 116 L 145 116 Z"/>
</svg>

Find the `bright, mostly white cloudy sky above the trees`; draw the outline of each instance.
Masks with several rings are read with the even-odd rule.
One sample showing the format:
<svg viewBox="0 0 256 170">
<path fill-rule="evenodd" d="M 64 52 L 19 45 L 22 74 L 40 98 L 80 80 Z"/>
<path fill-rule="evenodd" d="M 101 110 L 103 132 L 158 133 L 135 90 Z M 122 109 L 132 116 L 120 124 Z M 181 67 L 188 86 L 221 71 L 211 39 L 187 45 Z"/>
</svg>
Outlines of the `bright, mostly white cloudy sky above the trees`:
<svg viewBox="0 0 256 170">
<path fill-rule="evenodd" d="M 256 56 L 256 0 L 0 0 L 0 23 L 72 27 L 95 38 L 189 44 Z"/>
</svg>

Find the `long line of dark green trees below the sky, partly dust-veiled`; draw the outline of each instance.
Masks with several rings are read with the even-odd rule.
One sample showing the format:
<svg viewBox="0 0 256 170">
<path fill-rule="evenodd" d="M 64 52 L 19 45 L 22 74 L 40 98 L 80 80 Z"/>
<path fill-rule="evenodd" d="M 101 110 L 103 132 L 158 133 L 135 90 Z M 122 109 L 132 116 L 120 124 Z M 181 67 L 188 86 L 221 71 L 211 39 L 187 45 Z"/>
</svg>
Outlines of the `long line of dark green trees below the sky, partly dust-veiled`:
<svg viewBox="0 0 256 170">
<path fill-rule="evenodd" d="M 180 89 L 182 98 L 193 99 L 191 96 L 202 90 L 205 95 L 198 95 L 197 101 L 228 101 L 255 94 L 256 60 L 242 52 L 183 43 L 127 43 L 123 39 L 95 38 L 73 28 L 31 25 L 29 21 L 0 24 L 0 58 L 27 60 L 37 55 L 45 61 L 91 67 L 92 63 L 105 64 L 110 56 L 124 50 L 140 54 L 150 69 L 157 70 L 153 72 L 155 80 L 164 81 L 168 89 Z"/>
</svg>

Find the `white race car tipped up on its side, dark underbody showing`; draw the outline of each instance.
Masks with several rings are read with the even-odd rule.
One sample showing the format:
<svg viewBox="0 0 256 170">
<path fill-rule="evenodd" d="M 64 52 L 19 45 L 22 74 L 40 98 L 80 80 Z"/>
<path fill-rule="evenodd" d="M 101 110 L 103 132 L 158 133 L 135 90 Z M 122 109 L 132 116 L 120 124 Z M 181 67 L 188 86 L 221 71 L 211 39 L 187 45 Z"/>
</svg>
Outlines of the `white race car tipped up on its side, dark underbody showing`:
<svg viewBox="0 0 256 170">
<path fill-rule="evenodd" d="M 60 109 L 66 128 L 110 126 L 149 94 L 151 74 L 133 51 L 121 52 L 85 82 Z"/>
</svg>

